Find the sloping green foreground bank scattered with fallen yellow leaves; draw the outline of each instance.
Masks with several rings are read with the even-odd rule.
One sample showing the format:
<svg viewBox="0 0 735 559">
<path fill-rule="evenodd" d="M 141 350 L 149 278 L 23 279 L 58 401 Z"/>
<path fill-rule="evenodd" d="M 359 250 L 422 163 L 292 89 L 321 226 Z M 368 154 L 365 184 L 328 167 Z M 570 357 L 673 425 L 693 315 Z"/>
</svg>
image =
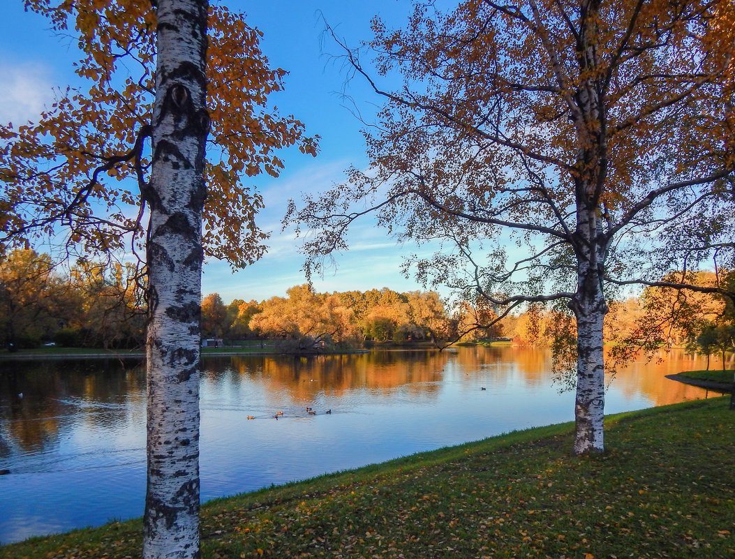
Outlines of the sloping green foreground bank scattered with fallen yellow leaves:
<svg viewBox="0 0 735 559">
<path fill-rule="evenodd" d="M 728 400 L 606 425 L 608 452 L 589 458 L 556 425 L 210 502 L 203 557 L 734 557 Z M 136 558 L 140 530 L 35 538 L 0 558 Z"/>
</svg>

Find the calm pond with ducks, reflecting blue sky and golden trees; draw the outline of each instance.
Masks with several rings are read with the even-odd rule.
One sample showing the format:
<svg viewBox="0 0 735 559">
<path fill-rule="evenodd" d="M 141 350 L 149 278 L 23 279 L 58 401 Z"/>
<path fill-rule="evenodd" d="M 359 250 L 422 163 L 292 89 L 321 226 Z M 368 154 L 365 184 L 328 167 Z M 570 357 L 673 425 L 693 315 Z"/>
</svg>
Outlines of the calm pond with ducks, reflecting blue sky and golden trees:
<svg viewBox="0 0 735 559">
<path fill-rule="evenodd" d="M 703 360 L 660 357 L 617 373 L 606 413 L 706 396 L 664 378 Z M 202 500 L 570 421 L 574 395 L 550 368 L 519 347 L 207 357 Z M 0 361 L 0 542 L 140 516 L 145 406 L 140 364 Z"/>
</svg>

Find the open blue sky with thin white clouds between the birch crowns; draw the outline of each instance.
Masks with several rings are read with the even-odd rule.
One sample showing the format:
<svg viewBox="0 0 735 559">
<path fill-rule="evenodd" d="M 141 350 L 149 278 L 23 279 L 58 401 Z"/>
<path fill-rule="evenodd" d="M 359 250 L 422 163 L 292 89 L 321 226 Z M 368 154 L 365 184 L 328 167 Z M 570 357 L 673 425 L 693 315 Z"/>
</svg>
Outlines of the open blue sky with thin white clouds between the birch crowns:
<svg viewBox="0 0 735 559">
<path fill-rule="evenodd" d="M 47 22 L 24 12 L 22 0 L 0 2 L 0 120 L 34 120 L 51 99 L 51 88 L 73 80 L 71 63 L 76 60 L 75 41 L 57 37 Z M 282 114 L 293 114 L 309 134 L 319 134 L 320 154 L 304 156 L 284 151 L 286 169 L 278 179 L 257 177 L 252 183 L 262 192 L 266 209 L 259 216 L 261 228 L 273 231 L 269 253 L 251 267 L 232 273 L 223 262 L 207 262 L 204 294 L 218 292 L 223 300 L 262 300 L 284 295 L 290 286 L 304 283 L 303 256 L 293 234 L 280 231 L 280 220 L 288 198 L 298 200 L 301 192 L 320 192 L 343 179 L 349 165 L 367 165 L 365 145 L 345 91 L 364 117 L 373 115 L 380 99 L 359 79 L 347 81 L 348 73 L 339 60 L 337 46 L 323 34 L 323 21 L 336 27 L 350 43 L 370 38 L 370 18 L 381 15 L 394 26 L 406 21 L 407 0 L 373 2 L 336 0 L 274 0 L 245 2 L 229 0 L 232 10 L 245 10 L 251 25 L 265 37 L 262 50 L 274 66 L 289 71 L 286 91 L 273 96 Z M 401 275 L 401 247 L 370 220 L 359 223 L 351 234 L 351 249 L 337 256 L 337 270 L 315 278 L 315 289 L 333 291 L 387 286 L 398 291 L 420 289 Z"/>
</svg>

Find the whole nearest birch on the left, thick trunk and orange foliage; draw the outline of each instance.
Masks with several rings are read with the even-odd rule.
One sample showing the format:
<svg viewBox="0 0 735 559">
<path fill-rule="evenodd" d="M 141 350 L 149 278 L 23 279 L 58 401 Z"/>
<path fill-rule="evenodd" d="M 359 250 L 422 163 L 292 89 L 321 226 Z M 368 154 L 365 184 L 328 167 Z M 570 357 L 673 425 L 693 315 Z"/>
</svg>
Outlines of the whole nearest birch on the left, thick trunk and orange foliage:
<svg viewBox="0 0 735 559">
<path fill-rule="evenodd" d="M 285 72 L 241 14 L 207 0 L 24 4 L 78 39 L 89 89 L 0 127 L 0 248 L 46 242 L 82 260 L 126 249 L 145 264 L 143 556 L 198 558 L 202 262 L 262 254 L 262 199 L 240 177 L 277 176 L 276 149 L 315 154 L 315 140 L 268 106 Z"/>
</svg>

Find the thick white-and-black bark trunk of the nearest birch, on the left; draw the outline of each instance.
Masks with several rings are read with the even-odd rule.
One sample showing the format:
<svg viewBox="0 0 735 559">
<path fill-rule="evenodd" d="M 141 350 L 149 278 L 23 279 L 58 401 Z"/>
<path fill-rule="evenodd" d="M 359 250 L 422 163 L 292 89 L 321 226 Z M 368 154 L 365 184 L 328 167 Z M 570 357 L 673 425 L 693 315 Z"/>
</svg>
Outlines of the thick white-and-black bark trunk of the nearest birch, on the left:
<svg viewBox="0 0 735 559">
<path fill-rule="evenodd" d="M 198 558 L 207 0 L 158 0 L 157 21 L 143 557 Z"/>
</svg>

